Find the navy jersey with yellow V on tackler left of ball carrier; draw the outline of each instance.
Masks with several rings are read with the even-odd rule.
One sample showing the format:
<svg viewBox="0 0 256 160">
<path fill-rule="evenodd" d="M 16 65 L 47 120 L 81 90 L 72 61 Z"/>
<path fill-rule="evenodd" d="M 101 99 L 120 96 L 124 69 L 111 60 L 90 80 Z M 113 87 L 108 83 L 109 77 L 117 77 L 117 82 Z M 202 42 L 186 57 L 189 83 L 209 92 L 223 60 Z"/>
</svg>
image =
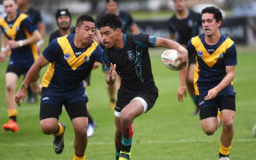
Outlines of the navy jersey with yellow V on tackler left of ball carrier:
<svg viewBox="0 0 256 160">
<path fill-rule="evenodd" d="M 56 92 L 83 86 L 83 80 L 97 60 L 102 63 L 103 51 L 95 41 L 86 48 L 76 48 L 75 35 L 54 39 L 44 50 L 44 58 L 50 66 L 44 74 L 43 87 Z"/>
</svg>

